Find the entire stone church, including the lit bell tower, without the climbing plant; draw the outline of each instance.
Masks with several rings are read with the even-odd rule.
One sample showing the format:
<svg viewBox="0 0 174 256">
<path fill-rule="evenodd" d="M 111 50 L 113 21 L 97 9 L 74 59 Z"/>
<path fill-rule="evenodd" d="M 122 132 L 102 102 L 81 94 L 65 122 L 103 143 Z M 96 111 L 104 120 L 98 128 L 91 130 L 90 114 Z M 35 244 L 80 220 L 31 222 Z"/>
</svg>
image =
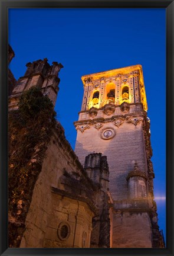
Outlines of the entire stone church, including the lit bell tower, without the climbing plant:
<svg viewBox="0 0 174 256">
<path fill-rule="evenodd" d="M 11 61 L 11 47 L 9 56 Z M 28 63 L 18 81 L 10 72 L 9 113 L 18 111 L 19 97 L 35 86 L 55 105 L 61 68 L 44 59 Z M 9 134 L 9 174 L 26 169 L 31 177 L 26 175 L 25 183 L 32 180 L 32 193 L 25 187 L 9 200 L 9 247 L 163 248 L 142 66 L 94 73 L 82 81 L 75 152 L 57 122 L 47 142 L 29 149 L 20 166 L 15 154 L 27 128 L 19 136 Z"/>
</svg>

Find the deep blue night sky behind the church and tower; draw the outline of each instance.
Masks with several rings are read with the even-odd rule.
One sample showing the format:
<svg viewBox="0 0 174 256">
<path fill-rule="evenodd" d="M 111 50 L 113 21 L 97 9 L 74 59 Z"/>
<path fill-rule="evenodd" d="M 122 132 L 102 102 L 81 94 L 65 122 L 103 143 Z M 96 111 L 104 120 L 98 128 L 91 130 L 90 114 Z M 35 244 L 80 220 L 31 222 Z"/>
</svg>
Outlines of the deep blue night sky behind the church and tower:
<svg viewBox="0 0 174 256">
<path fill-rule="evenodd" d="M 55 111 L 72 148 L 83 98 L 82 75 L 140 64 L 151 121 L 154 188 L 160 229 L 166 234 L 166 9 L 9 9 L 10 69 L 47 57 L 62 63 Z"/>
</svg>

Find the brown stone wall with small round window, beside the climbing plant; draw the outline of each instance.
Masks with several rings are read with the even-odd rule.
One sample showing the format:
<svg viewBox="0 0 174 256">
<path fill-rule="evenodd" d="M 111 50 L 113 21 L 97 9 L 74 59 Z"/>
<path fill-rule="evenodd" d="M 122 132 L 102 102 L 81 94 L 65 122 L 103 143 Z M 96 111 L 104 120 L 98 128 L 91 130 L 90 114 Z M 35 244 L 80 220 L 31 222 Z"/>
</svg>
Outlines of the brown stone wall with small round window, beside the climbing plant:
<svg viewBox="0 0 174 256">
<path fill-rule="evenodd" d="M 45 152 L 42 171 L 35 184 L 25 221 L 26 230 L 22 237 L 21 248 L 82 247 L 81 240 L 84 232 L 87 234 L 84 247 L 90 247 L 94 209 L 90 208 L 89 202 L 81 201 L 83 196 L 78 198 L 75 189 L 73 193 L 66 193 L 68 185 L 65 181 L 68 180 L 68 176 L 64 177 L 64 182 L 62 179 L 65 172 L 67 175 L 74 172 L 76 175 L 83 176 L 82 170 L 60 126 L 60 131 L 55 131 Z M 77 184 L 76 190 L 78 186 Z M 70 235 L 67 239 L 60 239 L 58 236 L 58 226 L 62 222 L 70 226 Z M 76 228 L 75 225 L 77 225 Z"/>
</svg>

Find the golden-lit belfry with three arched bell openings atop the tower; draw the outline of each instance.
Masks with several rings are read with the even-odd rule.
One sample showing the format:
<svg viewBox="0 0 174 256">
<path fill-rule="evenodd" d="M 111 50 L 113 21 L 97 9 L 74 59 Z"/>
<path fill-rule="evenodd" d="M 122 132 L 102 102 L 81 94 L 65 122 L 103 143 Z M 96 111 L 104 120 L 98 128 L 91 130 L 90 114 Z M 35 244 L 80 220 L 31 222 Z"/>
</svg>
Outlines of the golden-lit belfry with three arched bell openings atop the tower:
<svg viewBox="0 0 174 256">
<path fill-rule="evenodd" d="M 81 77 L 84 85 L 81 111 L 106 104 L 142 103 L 147 110 L 141 65 L 93 73 Z"/>
</svg>

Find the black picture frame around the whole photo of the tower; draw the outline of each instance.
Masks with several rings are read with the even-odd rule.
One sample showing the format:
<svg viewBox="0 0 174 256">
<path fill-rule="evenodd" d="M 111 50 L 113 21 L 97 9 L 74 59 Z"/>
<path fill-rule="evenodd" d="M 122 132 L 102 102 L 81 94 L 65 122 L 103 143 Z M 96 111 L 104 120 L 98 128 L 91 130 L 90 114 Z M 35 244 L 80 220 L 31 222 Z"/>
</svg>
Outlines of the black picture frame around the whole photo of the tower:
<svg viewBox="0 0 174 256">
<path fill-rule="evenodd" d="M 1 7 L 1 255 L 174 255 L 173 252 L 173 27 L 172 0 L 0 0 Z M 166 248 L 8 248 L 8 8 L 166 8 Z M 157 111 L 160 111 L 160 104 Z"/>
</svg>

